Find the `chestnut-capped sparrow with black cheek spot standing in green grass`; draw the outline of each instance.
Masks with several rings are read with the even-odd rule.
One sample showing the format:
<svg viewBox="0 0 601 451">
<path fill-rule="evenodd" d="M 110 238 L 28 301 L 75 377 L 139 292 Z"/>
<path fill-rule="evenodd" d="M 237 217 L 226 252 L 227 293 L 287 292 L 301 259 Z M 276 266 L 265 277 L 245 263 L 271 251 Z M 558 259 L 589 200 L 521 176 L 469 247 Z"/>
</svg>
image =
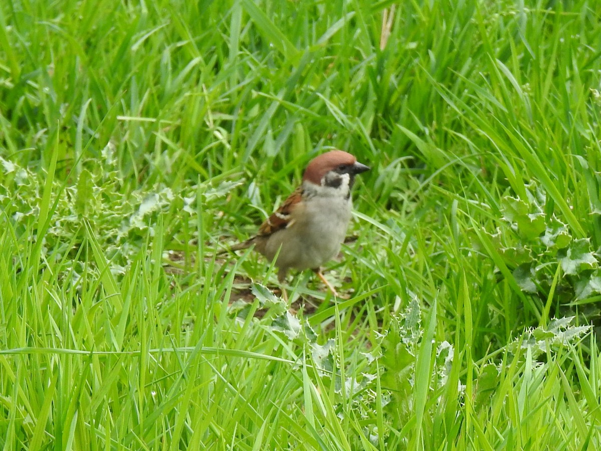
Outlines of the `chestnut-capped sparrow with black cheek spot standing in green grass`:
<svg viewBox="0 0 601 451">
<path fill-rule="evenodd" d="M 278 281 L 288 269 L 312 269 L 334 296 L 338 293 L 323 277 L 321 266 L 340 252 L 353 207 L 350 191 L 355 176 L 370 168 L 350 153 L 331 150 L 309 162 L 299 186 L 259 227 L 257 235 L 234 245 L 237 251 L 254 245 L 275 260 Z M 282 295 L 287 295 L 282 289 Z"/>
</svg>

